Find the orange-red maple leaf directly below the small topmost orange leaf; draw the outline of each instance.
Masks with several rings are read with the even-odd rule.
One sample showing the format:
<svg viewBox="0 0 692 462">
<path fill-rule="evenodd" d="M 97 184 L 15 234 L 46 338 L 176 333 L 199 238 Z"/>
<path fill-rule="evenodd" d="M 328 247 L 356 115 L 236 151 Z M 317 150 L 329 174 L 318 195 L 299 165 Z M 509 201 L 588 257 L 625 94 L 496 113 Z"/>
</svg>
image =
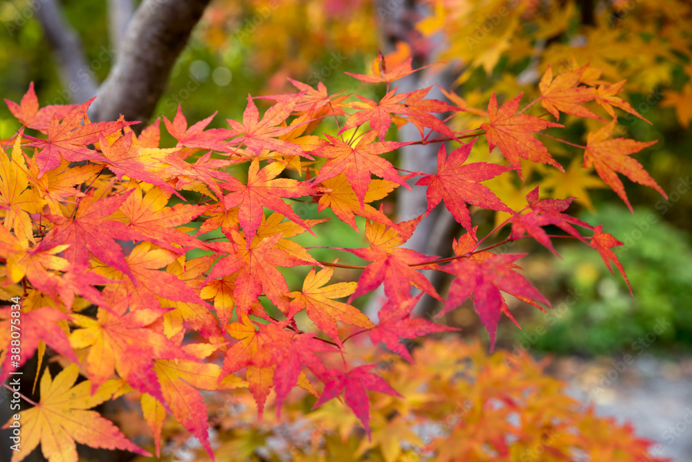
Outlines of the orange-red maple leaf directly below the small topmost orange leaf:
<svg viewBox="0 0 692 462">
<path fill-rule="evenodd" d="M 406 111 L 401 103 L 406 98 L 406 94 L 400 93 L 395 95 L 397 89 L 394 89 L 384 95 L 379 102 L 368 100 L 361 95 L 356 95 L 361 102 L 349 102 L 344 104 L 344 107 L 351 109 L 360 109 L 353 113 L 347 120 L 344 126 L 339 130 L 338 134 L 350 130 L 355 127 L 360 127 L 365 122 L 370 123 L 370 128 L 376 131 L 380 137 L 380 141 L 385 140 L 387 131 L 392 125 L 392 117 L 390 114 L 397 114 Z"/>
</svg>

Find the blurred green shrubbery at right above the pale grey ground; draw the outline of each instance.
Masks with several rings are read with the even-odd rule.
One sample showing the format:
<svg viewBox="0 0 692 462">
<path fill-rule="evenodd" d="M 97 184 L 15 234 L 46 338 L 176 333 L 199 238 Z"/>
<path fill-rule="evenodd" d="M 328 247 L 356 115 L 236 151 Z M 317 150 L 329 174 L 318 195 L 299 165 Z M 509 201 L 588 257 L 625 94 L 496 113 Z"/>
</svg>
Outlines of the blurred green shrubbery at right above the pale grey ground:
<svg viewBox="0 0 692 462">
<path fill-rule="evenodd" d="M 659 204 L 658 210 L 630 214 L 623 206 L 603 205 L 597 215 L 583 214 L 623 242 L 614 252 L 634 297 L 617 268 L 611 275 L 597 252 L 571 243 L 558 247 L 563 259 L 552 261 L 554 278 L 545 283 L 561 295 L 549 297 L 549 313 L 535 311 L 521 322 L 522 331 L 511 329 L 515 344 L 581 355 L 639 353 L 643 344 L 650 353 L 692 351 L 691 239 L 663 221 L 667 210 Z M 661 320 L 671 325 L 656 333 Z M 641 342 L 646 335 L 648 341 Z"/>
</svg>

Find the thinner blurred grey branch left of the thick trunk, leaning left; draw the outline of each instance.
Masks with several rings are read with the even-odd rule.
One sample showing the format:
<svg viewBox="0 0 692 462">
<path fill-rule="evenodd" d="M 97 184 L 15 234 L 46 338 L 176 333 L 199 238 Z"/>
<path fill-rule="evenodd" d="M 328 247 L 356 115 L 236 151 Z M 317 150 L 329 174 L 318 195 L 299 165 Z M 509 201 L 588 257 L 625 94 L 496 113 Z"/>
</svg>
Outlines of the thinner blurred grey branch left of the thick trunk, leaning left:
<svg viewBox="0 0 692 462">
<path fill-rule="evenodd" d="M 91 75 L 84 46 L 55 0 L 35 0 L 36 18 L 53 50 L 64 91 L 71 102 L 82 103 L 96 94 L 98 82 Z M 66 101 L 66 103 L 69 101 Z"/>
</svg>

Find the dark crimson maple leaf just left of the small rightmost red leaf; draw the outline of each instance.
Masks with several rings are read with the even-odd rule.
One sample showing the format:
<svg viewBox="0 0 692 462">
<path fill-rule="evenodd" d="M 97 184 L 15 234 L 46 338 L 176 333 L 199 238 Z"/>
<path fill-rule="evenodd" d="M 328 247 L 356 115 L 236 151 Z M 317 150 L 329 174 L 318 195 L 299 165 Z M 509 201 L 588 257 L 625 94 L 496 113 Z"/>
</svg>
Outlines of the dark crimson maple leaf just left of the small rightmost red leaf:
<svg viewBox="0 0 692 462">
<path fill-rule="evenodd" d="M 572 225 L 579 225 L 589 229 L 592 229 L 592 226 L 580 219 L 574 218 L 574 216 L 561 213 L 563 210 L 566 210 L 567 207 L 570 207 L 570 204 L 574 201 L 574 197 L 567 199 L 543 199 L 543 201 L 539 201 L 538 186 L 536 186 L 534 190 L 526 195 L 526 200 L 529 203 L 531 212 L 512 217 L 512 232 L 510 234 L 510 239 L 519 239 L 527 232 L 529 236 L 542 243 L 548 250 L 560 257 L 553 247 L 550 238 L 542 228 L 546 225 L 556 225 L 561 230 L 576 237 L 576 239 L 579 239 L 583 243 L 587 243 L 579 231 L 574 229 Z"/>
</svg>

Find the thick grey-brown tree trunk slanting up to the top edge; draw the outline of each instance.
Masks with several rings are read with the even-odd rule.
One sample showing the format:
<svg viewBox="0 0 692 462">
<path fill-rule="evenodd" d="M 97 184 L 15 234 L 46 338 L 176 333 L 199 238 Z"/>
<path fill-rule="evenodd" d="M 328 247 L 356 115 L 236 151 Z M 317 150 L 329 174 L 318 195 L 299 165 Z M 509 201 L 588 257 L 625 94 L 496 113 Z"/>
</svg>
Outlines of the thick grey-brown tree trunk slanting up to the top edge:
<svg viewBox="0 0 692 462">
<path fill-rule="evenodd" d="M 115 66 L 91 105 L 91 120 L 116 120 L 120 114 L 126 120 L 149 120 L 208 3 L 210 0 L 144 0 L 129 22 Z M 144 125 L 136 127 L 141 130 Z"/>
</svg>

